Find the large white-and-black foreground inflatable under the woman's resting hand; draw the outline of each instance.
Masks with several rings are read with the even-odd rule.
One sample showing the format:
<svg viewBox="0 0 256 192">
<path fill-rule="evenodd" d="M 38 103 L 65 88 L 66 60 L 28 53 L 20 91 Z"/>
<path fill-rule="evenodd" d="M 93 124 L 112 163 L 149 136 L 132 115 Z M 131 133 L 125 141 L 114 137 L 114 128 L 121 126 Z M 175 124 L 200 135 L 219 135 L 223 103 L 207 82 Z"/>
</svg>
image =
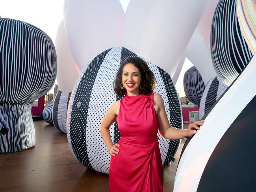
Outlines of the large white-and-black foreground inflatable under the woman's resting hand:
<svg viewBox="0 0 256 192">
<path fill-rule="evenodd" d="M 254 191 L 256 56 L 204 115 L 178 164 L 174 192 Z M 246 94 L 245 94 L 246 93 Z M 195 147 L 196 146 L 196 147 Z M 244 163 L 237 163 L 239 158 Z"/>
</svg>

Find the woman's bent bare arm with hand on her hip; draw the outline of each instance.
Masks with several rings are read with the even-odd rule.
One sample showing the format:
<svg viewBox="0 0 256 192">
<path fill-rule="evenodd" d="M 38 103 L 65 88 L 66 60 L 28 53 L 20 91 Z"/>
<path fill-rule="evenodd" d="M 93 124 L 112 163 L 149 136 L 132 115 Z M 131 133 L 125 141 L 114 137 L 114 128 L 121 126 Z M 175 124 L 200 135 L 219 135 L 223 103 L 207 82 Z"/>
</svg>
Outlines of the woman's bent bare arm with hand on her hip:
<svg viewBox="0 0 256 192">
<path fill-rule="evenodd" d="M 106 115 L 104 116 L 101 124 L 100 124 L 100 133 L 103 141 L 105 142 L 108 151 L 110 155 L 115 156 L 113 153 L 118 154 L 119 149 L 116 147 L 119 146 L 119 144 L 113 145 L 110 133 L 109 133 L 109 127 L 113 122 L 115 122 L 115 118 L 117 114 L 119 113 L 119 106 L 120 106 L 120 101 L 116 101 L 113 103 L 113 105 L 109 108 L 107 111 Z"/>
</svg>

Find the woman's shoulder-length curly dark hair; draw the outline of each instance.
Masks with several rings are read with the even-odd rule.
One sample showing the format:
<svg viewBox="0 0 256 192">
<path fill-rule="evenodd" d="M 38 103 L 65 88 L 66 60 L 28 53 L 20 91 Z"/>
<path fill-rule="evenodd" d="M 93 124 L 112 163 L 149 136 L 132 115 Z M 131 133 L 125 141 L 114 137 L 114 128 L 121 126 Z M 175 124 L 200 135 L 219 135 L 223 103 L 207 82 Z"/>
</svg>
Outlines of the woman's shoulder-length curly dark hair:
<svg viewBox="0 0 256 192">
<path fill-rule="evenodd" d="M 120 85 L 122 83 L 122 70 L 128 63 L 132 63 L 141 72 L 141 87 L 139 88 L 139 94 L 147 95 L 148 93 L 153 92 L 156 88 L 156 78 L 154 73 L 148 68 L 147 63 L 139 57 L 128 57 L 120 65 L 115 81 L 113 82 L 114 91 L 117 96 L 122 96 L 127 93 L 125 88 L 120 88 Z"/>
</svg>

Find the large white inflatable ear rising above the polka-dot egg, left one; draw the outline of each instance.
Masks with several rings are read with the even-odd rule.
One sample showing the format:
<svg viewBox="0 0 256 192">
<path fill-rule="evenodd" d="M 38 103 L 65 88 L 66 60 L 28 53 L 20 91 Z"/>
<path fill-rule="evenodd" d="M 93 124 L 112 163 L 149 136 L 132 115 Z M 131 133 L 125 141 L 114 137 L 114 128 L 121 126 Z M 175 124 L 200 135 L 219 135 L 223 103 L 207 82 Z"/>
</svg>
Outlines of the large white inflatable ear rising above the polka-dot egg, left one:
<svg viewBox="0 0 256 192">
<path fill-rule="evenodd" d="M 102 51 L 121 44 L 124 10 L 119 0 L 66 0 L 63 15 L 70 49 L 80 70 Z"/>
</svg>

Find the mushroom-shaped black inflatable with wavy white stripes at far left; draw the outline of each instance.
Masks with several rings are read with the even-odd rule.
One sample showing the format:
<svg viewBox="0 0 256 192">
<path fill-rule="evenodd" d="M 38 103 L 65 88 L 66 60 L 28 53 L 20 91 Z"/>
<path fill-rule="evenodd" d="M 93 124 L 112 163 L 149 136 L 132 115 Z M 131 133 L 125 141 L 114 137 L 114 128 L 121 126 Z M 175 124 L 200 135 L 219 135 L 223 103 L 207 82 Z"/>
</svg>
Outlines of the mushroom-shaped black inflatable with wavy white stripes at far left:
<svg viewBox="0 0 256 192">
<path fill-rule="evenodd" d="M 0 153 L 35 145 L 32 103 L 51 89 L 56 51 L 39 28 L 0 18 Z"/>
</svg>

